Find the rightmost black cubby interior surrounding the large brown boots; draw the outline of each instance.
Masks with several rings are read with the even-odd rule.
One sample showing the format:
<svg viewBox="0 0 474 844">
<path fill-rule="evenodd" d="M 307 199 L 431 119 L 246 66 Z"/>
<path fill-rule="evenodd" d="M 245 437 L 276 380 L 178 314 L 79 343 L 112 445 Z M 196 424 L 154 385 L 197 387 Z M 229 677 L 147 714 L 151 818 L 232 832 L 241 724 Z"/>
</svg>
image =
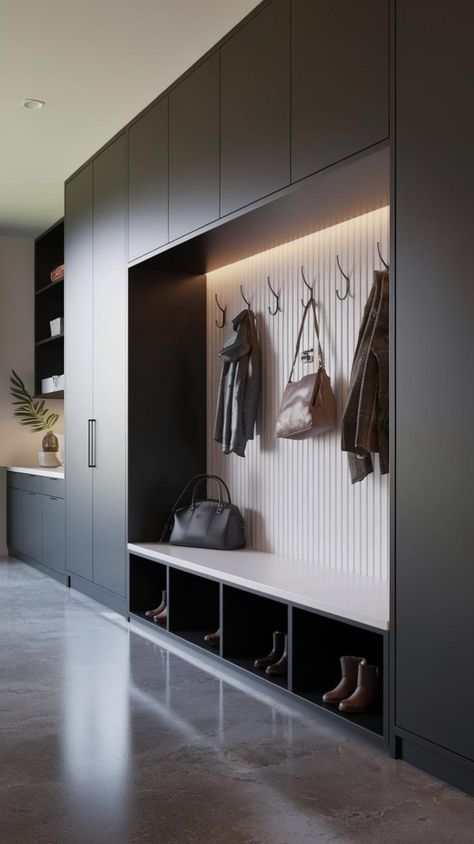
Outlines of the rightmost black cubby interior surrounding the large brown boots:
<svg viewBox="0 0 474 844">
<path fill-rule="evenodd" d="M 383 735 L 383 654 L 382 633 L 308 610 L 293 610 L 292 691 L 379 735 Z M 323 703 L 324 692 L 341 679 L 340 658 L 346 655 L 364 657 L 379 667 L 380 701 L 374 711 L 349 715 Z"/>
</svg>

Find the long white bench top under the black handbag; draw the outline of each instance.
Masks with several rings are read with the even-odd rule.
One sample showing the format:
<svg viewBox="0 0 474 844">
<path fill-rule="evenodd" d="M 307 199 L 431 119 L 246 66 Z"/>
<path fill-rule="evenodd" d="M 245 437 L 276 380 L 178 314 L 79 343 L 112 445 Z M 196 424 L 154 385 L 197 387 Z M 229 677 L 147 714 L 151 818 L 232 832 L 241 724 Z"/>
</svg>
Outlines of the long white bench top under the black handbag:
<svg viewBox="0 0 474 844">
<path fill-rule="evenodd" d="M 130 543 L 128 550 L 302 607 L 319 609 L 379 630 L 389 629 L 389 584 L 386 580 L 247 549 L 210 551 L 139 542 Z"/>
</svg>

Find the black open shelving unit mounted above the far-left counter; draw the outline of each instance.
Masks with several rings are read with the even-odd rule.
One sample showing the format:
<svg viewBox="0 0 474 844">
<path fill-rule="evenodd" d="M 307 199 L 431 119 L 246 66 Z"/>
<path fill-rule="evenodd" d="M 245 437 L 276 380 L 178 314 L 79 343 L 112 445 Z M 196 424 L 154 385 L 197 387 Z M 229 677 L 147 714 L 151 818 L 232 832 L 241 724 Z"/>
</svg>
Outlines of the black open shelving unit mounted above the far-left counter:
<svg viewBox="0 0 474 844">
<path fill-rule="evenodd" d="M 35 241 L 35 395 L 64 398 L 64 390 L 41 392 L 41 381 L 64 373 L 64 333 L 51 336 L 50 321 L 64 317 L 64 280 L 50 273 L 64 263 L 64 222 L 60 220 Z"/>
</svg>

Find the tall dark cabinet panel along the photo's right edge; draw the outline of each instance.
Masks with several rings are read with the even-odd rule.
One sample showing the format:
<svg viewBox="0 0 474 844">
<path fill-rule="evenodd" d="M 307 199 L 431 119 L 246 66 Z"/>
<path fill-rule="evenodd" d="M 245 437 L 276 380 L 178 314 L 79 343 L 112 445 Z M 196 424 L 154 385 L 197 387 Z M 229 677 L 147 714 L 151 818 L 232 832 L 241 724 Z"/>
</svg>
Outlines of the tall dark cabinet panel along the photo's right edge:
<svg viewBox="0 0 474 844">
<path fill-rule="evenodd" d="M 397 2 L 395 720 L 474 760 L 470 18 Z"/>
</svg>

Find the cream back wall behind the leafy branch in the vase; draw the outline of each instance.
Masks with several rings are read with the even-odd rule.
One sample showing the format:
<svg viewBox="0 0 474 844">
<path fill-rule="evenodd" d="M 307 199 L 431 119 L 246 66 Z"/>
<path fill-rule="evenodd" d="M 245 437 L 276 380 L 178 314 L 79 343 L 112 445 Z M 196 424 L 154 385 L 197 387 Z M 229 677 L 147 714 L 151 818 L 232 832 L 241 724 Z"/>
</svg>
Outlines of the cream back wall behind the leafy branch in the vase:
<svg viewBox="0 0 474 844">
<path fill-rule="evenodd" d="M 0 237 L 0 466 L 37 465 L 42 434 L 23 428 L 13 416 L 9 392 L 11 369 L 33 390 L 34 380 L 34 241 Z M 61 414 L 63 403 L 48 403 Z M 5 476 L 0 479 L 0 554 L 5 553 Z"/>
</svg>

